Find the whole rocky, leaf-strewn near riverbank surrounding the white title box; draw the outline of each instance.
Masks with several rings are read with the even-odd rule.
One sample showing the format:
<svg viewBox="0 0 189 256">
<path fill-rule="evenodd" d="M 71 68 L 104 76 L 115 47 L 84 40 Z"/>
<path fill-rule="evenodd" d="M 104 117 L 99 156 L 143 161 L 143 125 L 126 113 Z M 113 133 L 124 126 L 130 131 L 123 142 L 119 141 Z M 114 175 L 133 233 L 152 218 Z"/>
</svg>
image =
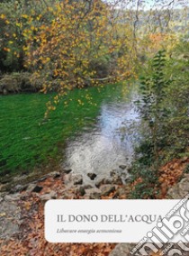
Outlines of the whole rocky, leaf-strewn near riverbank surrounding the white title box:
<svg viewBox="0 0 189 256">
<path fill-rule="evenodd" d="M 172 178 L 168 176 L 168 180 L 172 182 L 167 182 L 166 193 L 159 194 L 161 198 L 182 198 L 189 192 L 189 174 L 184 172 L 188 163 L 189 159 L 174 160 L 161 169 L 160 177 L 165 180 L 168 169 L 172 170 Z M 121 166 L 121 169 L 124 172 L 125 167 Z M 173 182 L 174 174 L 177 179 Z M 88 173 L 88 177 L 94 182 L 94 186 L 86 184 L 83 177 L 71 169 L 61 169 L 29 183 L 18 182 L 9 192 L 1 193 L 1 255 L 12 256 L 15 251 L 16 255 L 55 255 L 55 251 L 65 256 L 69 255 L 70 251 L 76 256 L 109 255 L 115 244 L 57 244 L 46 242 L 44 238 L 44 205 L 49 199 L 127 199 L 139 182 L 128 181 L 125 184 L 121 171 L 110 171 L 109 177 L 102 179 L 94 173 Z M 115 249 L 121 250 L 121 245 Z M 115 252 L 112 251 L 110 255 L 115 255 L 113 253 Z"/>
</svg>

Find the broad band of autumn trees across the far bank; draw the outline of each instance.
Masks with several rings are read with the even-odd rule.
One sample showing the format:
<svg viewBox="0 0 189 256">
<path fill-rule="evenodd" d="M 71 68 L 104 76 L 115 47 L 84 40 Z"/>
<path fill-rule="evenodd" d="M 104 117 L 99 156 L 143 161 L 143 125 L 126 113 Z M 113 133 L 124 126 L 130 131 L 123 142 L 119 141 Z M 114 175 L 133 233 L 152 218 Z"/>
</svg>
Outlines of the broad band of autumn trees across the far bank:
<svg viewBox="0 0 189 256">
<path fill-rule="evenodd" d="M 30 70 L 33 81 L 41 79 L 44 92 L 56 88 L 59 94 L 67 88 L 130 78 L 140 60 L 162 48 L 169 47 L 171 54 L 178 41 L 173 22 L 178 12 L 176 2 L 156 1 L 145 10 L 147 2 L 3 3 L 1 67 L 4 71 Z M 183 2 L 179 1 L 179 5 Z M 179 25 L 183 28 L 184 21 Z"/>
</svg>

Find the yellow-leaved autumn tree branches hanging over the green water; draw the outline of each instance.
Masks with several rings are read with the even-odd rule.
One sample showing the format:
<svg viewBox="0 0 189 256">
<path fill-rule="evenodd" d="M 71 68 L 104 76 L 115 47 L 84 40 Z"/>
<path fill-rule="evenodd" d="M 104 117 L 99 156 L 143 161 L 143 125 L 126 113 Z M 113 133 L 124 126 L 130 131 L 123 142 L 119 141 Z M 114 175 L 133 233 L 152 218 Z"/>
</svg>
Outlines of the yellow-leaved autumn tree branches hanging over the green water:
<svg viewBox="0 0 189 256">
<path fill-rule="evenodd" d="M 62 96 L 67 89 L 118 81 L 134 72 L 131 28 L 115 22 L 108 5 L 63 1 L 48 7 L 48 14 L 51 22 L 24 34 L 24 67 L 43 81 L 44 92 L 56 89 Z M 57 104 L 56 96 L 49 110 Z"/>
</svg>

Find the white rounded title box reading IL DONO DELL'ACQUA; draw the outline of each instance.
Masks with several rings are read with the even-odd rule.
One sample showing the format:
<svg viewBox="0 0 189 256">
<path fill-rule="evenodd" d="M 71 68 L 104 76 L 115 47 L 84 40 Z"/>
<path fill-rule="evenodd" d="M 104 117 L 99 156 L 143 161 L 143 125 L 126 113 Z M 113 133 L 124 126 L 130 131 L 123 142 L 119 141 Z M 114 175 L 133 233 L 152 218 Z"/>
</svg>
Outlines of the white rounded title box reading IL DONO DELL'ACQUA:
<svg viewBox="0 0 189 256">
<path fill-rule="evenodd" d="M 179 224 L 182 219 L 179 213 L 180 206 L 175 209 L 176 212 L 172 210 L 179 202 L 179 200 L 49 200 L 45 206 L 45 237 L 49 242 L 139 242 L 167 216 L 164 228 L 156 229 L 156 240 L 162 241 L 163 238 L 166 241 L 167 236 L 161 235 L 165 234 L 166 228 L 169 236 L 170 232 L 174 234 L 173 239 L 169 239 L 168 242 L 178 242 L 181 237 L 177 234 L 184 232 L 184 226 L 187 225 L 186 217 L 184 225 L 173 227 L 172 231 L 168 220 L 173 223 L 171 218 L 173 220 L 173 215 L 177 215 L 178 219 L 174 217 L 174 224 Z M 185 211 L 187 212 L 185 215 L 188 215 L 189 210 L 186 208 Z M 182 212 L 184 215 L 184 210 Z M 174 228 L 177 231 L 177 238 Z"/>
</svg>

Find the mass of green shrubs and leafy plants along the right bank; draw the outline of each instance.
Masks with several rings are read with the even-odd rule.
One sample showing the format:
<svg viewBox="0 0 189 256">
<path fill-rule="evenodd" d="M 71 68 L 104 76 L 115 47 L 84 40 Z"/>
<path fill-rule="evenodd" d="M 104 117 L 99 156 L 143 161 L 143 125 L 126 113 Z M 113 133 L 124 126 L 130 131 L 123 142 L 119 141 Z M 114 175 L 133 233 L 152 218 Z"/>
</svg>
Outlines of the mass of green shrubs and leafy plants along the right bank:
<svg viewBox="0 0 189 256">
<path fill-rule="evenodd" d="M 165 51 L 159 51 L 149 61 L 147 75 L 141 78 L 139 104 L 148 129 L 131 169 L 132 181 L 142 179 L 130 193 L 131 198 L 155 197 L 157 189 L 152 187 L 158 187 L 160 166 L 189 155 L 188 49 L 188 41 L 180 41 L 169 59 Z"/>
</svg>

